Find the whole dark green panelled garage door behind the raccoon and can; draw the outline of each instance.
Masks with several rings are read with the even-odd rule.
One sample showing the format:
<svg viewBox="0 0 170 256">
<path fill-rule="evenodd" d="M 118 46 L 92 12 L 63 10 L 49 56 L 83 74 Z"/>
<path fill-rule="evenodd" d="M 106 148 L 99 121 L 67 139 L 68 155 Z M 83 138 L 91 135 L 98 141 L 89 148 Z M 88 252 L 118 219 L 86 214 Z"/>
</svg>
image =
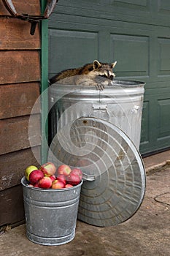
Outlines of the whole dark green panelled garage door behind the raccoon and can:
<svg viewBox="0 0 170 256">
<path fill-rule="evenodd" d="M 146 82 L 140 152 L 169 148 L 170 1 L 58 1 L 49 20 L 49 76 L 93 59 L 117 61 L 121 80 Z"/>
</svg>

